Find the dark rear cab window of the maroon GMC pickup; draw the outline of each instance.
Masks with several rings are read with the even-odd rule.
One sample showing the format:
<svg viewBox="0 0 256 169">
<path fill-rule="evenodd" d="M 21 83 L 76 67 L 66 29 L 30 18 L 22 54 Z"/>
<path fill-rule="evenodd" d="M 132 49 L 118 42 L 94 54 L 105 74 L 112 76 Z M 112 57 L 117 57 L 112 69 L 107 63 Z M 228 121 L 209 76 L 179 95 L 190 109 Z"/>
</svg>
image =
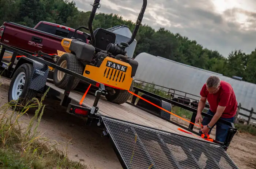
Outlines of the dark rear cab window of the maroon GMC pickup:
<svg viewBox="0 0 256 169">
<path fill-rule="evenodd" d="M 44 23 L 39 24 L 38 27 L 36 28 L 36 30 L 47 32 L 49 34 L 53 34 L 53 35 L 57 35 L 57 36 L 61 36 L 63 38 L 67 38 L 68 34 L 70 32 L 69 30 L 64 30 L 62 28 L 57 28 L 55 26 L 44 24 Z"/>
</svg>

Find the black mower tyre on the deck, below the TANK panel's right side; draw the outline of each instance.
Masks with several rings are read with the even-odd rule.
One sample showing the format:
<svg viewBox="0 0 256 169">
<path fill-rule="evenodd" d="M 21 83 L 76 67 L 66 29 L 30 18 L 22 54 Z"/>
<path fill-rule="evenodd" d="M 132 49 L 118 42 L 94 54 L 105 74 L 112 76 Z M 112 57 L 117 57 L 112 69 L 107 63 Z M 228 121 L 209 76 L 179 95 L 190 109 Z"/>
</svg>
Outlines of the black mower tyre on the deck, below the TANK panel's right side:
<svg viewBox="0 0 256 169">
<path fill-rule="evenodd" d="M 129 91 L 132 91 L 132 89 L 133 89 L 133 81 Z M 130 96 L 131 94 L 127 90 L 113 89 L 111 91 L 108 91 L 108 94 L 105 97 L 110 102 L 123 104 L 128 100 Z"/>
</svg>

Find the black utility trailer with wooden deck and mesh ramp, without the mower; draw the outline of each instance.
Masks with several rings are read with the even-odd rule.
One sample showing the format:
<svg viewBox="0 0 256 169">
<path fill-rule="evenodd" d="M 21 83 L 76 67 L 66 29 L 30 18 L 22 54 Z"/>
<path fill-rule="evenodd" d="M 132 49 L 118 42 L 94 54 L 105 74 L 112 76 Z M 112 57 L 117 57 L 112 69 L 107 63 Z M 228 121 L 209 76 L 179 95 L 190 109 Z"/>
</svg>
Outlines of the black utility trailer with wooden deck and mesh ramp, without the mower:
<svg viewBox="0 0 256 169">
<path fill-rule="evenodd" d="M 106 94 L 103 84 L 24 51 L 5 44 L 1 45 L 0 70 L 3 71 L 5 77 L 12 78 L 9 95 L 12 94 L 11 89 L 16 88 L 16 91 L 22 89 L 22 94 L 27 97 L 43 94 L 50 89 L 48 95 L 58 98 L 60 105 L 67 107 L 68 113 L 87 117 L 87 124 L 101 127 L 102 135 L 109 137 L 123 168 L 238 168 L 225 151 L 236 133 L 233 123 L 219 121 L 230 126 L 225 143 L 207 141 L 201 138 L 199 133 L 193 131 L 193 125 L 185 127 L 170 121 L 169 113 L 159 111 L 152 105 L 150 107 L 148 102 L 142 99 L 135 103 L 136 96 L 133 96 L 132 102 L 121 105 L 106 101 L 102 97 Z M 3 62 L 5 50 L 13 52 L 11 61 L 15 60 L 17 55 L 25 57 L 22 56 L 16 65 Z M 53 57 L 42 52 L 38 55 Z M 25 71 L 21 71 L 22 67 Z M 70 90 L 72 80 L 65 90 L 56 87 L 48 78 L 49 67 L 72 75 L 72 79 L 79 78 L 98 87 L 95 96 L 86 95 L 81 102 L 83 93 Z M 26 72 L 26 70 L 29 71 Z M 21 76 L 21 72 L 25 73 L 25 76 Z M 20 79 L 18 79 L 19 76 Z M 22 78 L 25 78 L 25 82 Z M 191 122 L 195 121 L 195 109 L 136 87 L 133 89 L 135 94 L 144 93 L 143 98 L 168 111 L 171 109 L 171 104 L 192 111 Z M 210 117 L 210 115 L 207 116 Z M 179 127 L 185 132 L 178 130 Z"/>
</svg>

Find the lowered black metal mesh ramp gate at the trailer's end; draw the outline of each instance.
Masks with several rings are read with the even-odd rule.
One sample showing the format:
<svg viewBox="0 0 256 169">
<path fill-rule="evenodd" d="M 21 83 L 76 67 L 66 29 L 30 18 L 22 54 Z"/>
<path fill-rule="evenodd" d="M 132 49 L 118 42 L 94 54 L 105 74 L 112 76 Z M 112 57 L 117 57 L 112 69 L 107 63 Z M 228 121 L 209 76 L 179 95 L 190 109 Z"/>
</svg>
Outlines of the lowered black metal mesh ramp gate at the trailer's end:
<svg viewBox="0 0 256 169">
<path fill-rule="evenodd" d="M 123 168 L 238 169 L 215 143 L 101 116 Z"/>
</svg>

